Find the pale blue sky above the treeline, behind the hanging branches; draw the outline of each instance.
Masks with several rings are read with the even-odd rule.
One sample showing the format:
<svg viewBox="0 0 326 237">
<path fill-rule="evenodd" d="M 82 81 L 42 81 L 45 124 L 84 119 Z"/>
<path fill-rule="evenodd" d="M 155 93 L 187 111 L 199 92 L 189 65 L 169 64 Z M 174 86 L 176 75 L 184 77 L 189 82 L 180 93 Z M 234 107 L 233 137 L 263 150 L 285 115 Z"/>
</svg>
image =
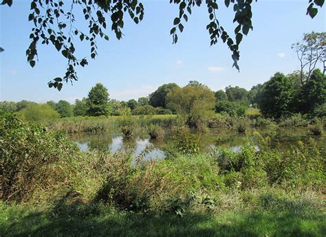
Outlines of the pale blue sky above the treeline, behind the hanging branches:
<svg viewBox="0 0 326 237">
<path fill-rule="evenodd" d="M 170 30 L 179 14 L 177 5 L 168 0 L 143 0 L 143 21 L 135 25 L 126 18 L 120 41 L 108 30 L 110 39 L 98 40 L 95 60 L 89 57 L 89 45 L 77 43 L 76 38 L 77 55 L 87 56 L 89 65 L 78 67 L 78 81 L 64 84 L 59 92 L 48 88 L 47 82 L 65 74 L 65 58 L 52 45 L 39 45 L 39 62 L 30 67 L 25 56 L 33 27 L 28 21 L 30 1 L 13 2 L 11 8 L 0 6 L 0 46 L 5 49 L 0 53 L 0 101 L 74 102 L 86 97 L 97 82 L 104 84 L 110 98 L 116 100 L 138 99 L 164 83 L 184 86 L 189 80 L 198 80 L 213 91 L 228 85 L 250 89 L 269 80 L 276 71 L 289 74 L 299 69 L 292 43 L 301 41 L 304 33 L 325 32 L 326 24 L 325 6 L 314 19 L 305 14 L 308 0 L 252 3 L 254 30 L 241 42 L 238 72 L 232 68 L 227 45 L 218 43 L 210 47 L 206 30 L 209 19 L 204 4 L 193 9 L 188 22 L 183 24 L 184 32 L 178 34 L 179 40 L 173 45 Z M 219 7 L 217 16 L 221 25 L 233 32 L 237 26 L 232 23 L 234 12 L 224 6 L 224 1 L 219 1 Z M 81 19 L 78 23 L 80 27 L 85 27 L 83 22 Z"/>
</svg>

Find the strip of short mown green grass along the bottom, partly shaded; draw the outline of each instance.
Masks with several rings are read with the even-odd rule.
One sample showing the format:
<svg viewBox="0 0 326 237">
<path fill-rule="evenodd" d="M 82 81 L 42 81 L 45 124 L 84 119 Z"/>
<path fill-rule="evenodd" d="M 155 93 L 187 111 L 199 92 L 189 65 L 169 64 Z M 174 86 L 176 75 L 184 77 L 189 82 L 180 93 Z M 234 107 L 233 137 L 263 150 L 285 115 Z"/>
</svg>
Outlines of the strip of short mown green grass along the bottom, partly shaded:
<svg viewBox="0 0 326 237">
<path fill-rule="evenodd" d="M 102 205 L 0 206 L 0 236 L 323 236 L 325 214 L 226 210 L 131 214 Z"/>
</svg>

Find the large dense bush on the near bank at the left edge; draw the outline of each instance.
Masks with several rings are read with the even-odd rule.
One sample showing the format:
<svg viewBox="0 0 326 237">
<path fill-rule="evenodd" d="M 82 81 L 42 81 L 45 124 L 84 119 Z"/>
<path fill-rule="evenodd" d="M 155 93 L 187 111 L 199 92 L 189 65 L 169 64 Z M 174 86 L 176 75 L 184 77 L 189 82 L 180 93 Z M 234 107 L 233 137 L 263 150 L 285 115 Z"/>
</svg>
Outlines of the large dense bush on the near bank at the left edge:
<svg viewBox="0 0 326 237">
<path fill-rule="evenodd" d="M 5 115 L 0 122 L 1 199 L 25 201 L 37 189 L 65 183 L 59 161 L 80 156 L 76 144 L 61 133 Z"/>
</svg>

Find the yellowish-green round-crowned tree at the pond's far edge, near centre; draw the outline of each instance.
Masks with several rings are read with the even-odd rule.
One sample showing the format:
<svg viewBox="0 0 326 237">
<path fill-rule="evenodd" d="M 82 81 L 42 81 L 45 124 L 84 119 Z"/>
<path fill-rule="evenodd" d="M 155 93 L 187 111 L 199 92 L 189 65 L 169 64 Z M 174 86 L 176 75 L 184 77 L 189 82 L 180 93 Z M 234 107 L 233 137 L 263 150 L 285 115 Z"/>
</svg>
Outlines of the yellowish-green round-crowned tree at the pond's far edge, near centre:
<svg viewBox="0 0 326 237">
<path fill-rule="evenodd" d="M 173 111 L 184 115 L 188 126 L 195 126 L 204 111 L 214 108 L 214 92 L 208 87 L 175 87 L 166 96 L 167 106 Z"/>
</svg>

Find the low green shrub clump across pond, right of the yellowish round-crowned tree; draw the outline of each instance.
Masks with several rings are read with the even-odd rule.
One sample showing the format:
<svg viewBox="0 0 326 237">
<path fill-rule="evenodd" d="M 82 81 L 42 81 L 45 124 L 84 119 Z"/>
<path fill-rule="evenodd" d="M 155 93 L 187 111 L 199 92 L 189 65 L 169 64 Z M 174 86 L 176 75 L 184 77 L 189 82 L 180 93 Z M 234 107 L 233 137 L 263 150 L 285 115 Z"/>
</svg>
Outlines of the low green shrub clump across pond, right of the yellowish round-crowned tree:
<svg viewBox="0 0 326 237">
<path fill-rule="evenodd" d="M 215 104 L 215 112 L 227 113 L 230 116 L 245 116 L 248 107 L 241 102 L 230 102 L 227 100 L 217 101 Z"/>
</svg>

